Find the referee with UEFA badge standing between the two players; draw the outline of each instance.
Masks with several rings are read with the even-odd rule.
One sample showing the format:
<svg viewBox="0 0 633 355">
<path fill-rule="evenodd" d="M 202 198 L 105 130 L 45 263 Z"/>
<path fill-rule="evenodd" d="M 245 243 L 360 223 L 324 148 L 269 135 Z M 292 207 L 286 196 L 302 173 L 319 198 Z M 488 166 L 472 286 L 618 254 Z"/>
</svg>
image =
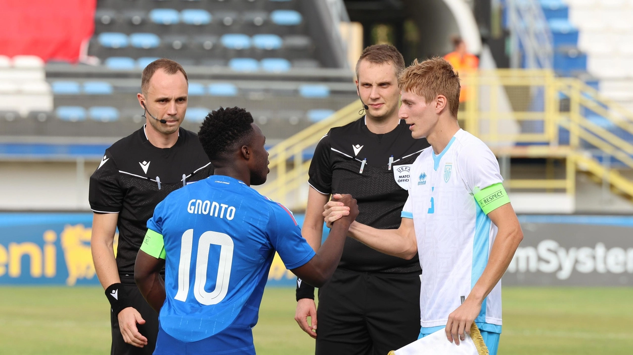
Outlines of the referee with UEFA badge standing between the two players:
<svg viewBox="0 0 633 355">
<path fill-rule="evenodd" d="M 392 45 L 367 47 L 358 59 L 356 85 L 365 116 L 330 129 L 310 164 L 302 234 L 315 250 L 321 246 L 323 205 L 334 193 L 356 198 L 360 223 L 379 229 L 400 225 L 410 164 L 429 147 L 413 139 L 398 118 L 403 69 L 404 59 Z M 339 267 L 319 289 L 318 311 L 314 287 L 298 280 L 295 320 L 316 338 L 316 355 L 385 355 L 418 338 L 420 274 L 417 255 L 404 260 L 347 238 Z"/>
</svg>

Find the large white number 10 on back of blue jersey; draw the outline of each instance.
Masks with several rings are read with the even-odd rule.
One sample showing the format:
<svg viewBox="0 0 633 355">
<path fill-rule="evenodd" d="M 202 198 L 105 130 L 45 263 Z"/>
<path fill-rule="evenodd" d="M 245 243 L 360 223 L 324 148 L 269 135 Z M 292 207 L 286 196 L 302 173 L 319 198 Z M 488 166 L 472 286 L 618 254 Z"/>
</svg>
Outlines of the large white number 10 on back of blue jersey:
<svg viewBox="0 0 633 355">
<path fill-rule="evenodd" d="M 182 234 L 180 243 L 180 262 L 178 266 L 178 292 L 174 299 L 186 302 L 189 294 L 189 269 L 191 268 L 191 250 L 194 239 L 194 230 L 187 229 Z M 216 277 L 215 289 L 206 292 L 206 272 L 209 265 L 209 250 L 211 244 L 220 246 L 220 260 L 218 263 L 218 275 Z M 233 263 L 233 239 L 229 234 L 221 232 L 204 232 L 198 241 L 197 257 L 195 260 L 194 296 L 196 300 L 210 306 L 220 303 L 229 291 L 229 279 L 231 265 Z"/>
</svg>

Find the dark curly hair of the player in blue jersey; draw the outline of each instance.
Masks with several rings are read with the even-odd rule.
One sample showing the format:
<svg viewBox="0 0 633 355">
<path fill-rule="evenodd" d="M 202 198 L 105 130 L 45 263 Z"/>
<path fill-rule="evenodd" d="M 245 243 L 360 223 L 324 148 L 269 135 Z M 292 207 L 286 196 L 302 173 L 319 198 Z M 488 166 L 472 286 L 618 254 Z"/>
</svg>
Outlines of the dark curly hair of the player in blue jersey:
<svg viewBox="0 0 633 355">
<path fill-rule="evenodd" d="M 236 146 L 242 146 L 253 134 L 253 116 L 240 107 L 220 107 L 204 118 L 198 139 L 210 160 L 227 156 Z"/>
</svg>

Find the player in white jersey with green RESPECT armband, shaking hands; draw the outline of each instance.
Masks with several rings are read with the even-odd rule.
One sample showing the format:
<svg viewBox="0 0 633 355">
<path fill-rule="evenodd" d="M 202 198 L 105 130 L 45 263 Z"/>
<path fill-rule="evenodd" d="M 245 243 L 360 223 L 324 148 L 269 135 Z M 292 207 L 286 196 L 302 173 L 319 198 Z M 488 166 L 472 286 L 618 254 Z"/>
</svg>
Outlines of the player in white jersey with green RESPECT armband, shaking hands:
<svg viewBox="0 0 633 355">
<path fill-rule="evenodd" d="M 419 252 L 420 337 L 443 329 L 459 344 L 475 322 L 495 355 L 500 280 L 523 239 L 499 164 L 484 142 L 460 129 L 460 79 L 451 64 L 416 60 L 398 84 L 399 117 L 410 124 L 413 138 L 427 138 L 431 147 L 411 166 L 400 228 L 385 234 L 354 222 L 349 232 L 385 254 L 411 258 Z M 326 222 L 346 215 L 341 203 L 325 208 Z"/>
</svg>

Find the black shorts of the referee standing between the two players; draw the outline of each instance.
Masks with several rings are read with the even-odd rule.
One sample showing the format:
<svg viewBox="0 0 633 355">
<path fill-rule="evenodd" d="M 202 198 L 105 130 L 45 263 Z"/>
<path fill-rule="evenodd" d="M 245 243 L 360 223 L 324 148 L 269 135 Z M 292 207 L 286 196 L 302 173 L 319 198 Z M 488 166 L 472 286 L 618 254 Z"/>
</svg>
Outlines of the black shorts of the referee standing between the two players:
<svg viewBox="0 0 633 355">
<path fill-rule="evenodd" d="M 337 268 L 318 290 L 316 355 L 387 355 L 420 334 L 420 274 Z"/>
</svg>

